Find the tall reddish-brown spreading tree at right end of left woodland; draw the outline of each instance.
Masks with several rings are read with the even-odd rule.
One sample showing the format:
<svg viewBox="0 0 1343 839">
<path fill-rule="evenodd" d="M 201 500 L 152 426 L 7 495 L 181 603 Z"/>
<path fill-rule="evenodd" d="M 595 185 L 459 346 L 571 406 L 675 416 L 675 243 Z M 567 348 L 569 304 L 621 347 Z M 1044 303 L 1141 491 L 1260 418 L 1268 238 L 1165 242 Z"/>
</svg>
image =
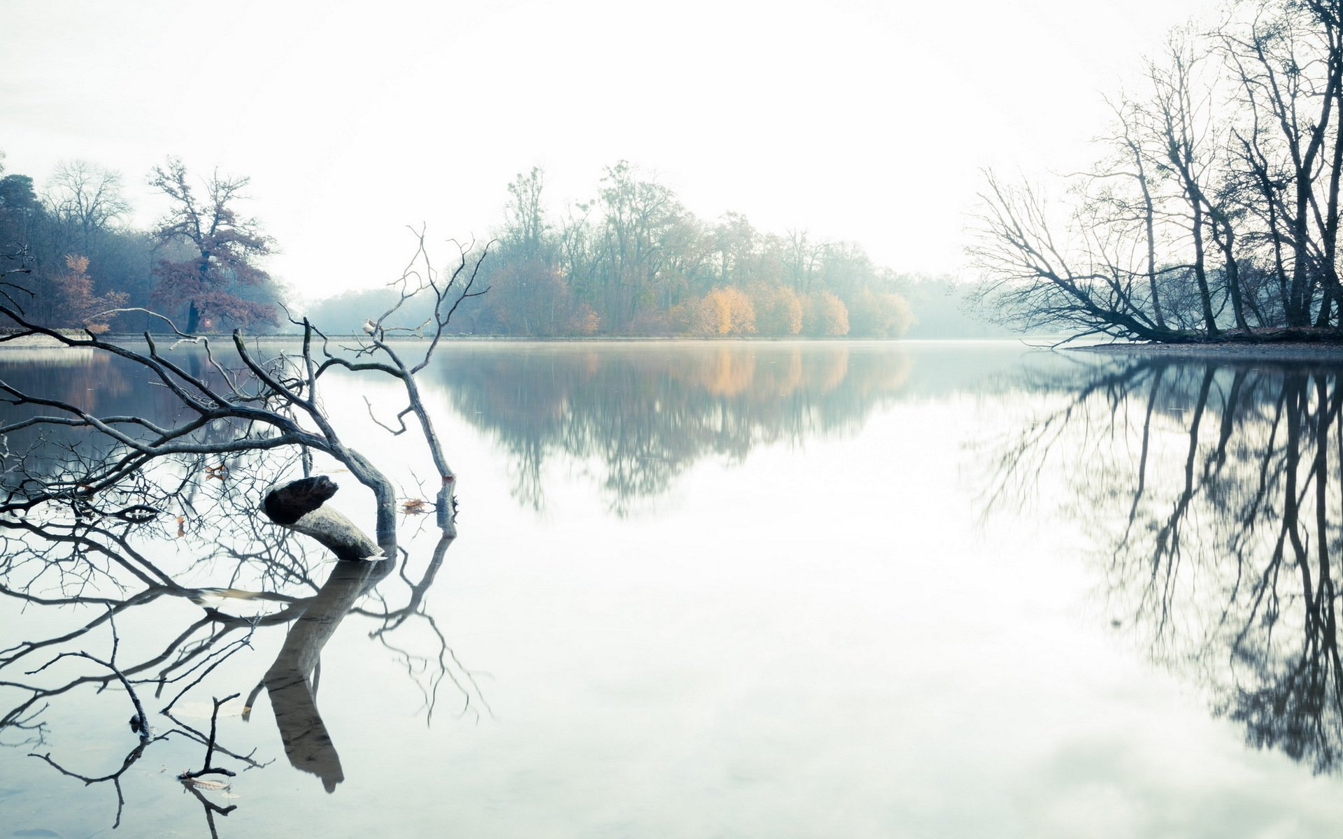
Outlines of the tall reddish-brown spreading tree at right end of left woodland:
<svg viewBox="0 0 1343 839">
<path fill-rule="evenodd" d="M 239 216 L 236 208 L 248 183 L 216 170 L 197 193 L 181 160 L 169 158 L 153 169 L 150 184 L 171 201 L 154 235 L 185 250 L 184 258 L 165 258 L 154 266 L 154 298 L 165 313 L 185 314 L 188 333 L 208 329 L 215 319 L 238 326 L 277 322 L 270 302 L 247 298 L 257 290 L 273 294 L 274 287 L 270 274 L 257 264 L 274 244 L 255 219 Z"/>
</svg>

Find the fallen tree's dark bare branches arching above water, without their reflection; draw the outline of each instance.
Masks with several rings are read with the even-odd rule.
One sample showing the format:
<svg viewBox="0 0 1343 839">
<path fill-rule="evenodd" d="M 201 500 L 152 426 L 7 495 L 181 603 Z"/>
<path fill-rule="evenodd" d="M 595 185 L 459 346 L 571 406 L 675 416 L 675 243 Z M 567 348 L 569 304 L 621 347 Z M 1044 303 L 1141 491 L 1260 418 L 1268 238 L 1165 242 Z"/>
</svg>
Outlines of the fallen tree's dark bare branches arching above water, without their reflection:
<svg viewBox="0 0 1343 839">
<path fill-rule="evenodd" d="M 128 493 L 126 487 L 136 485 L 137 490 L 144 490 L 138 478 L 146 468 L 167 458 L 219 458 L 239 452 L 291 450 L 301 454 L 304 471 L 310 474 L 312 456 L 321 452 L 348 468 L 361 485 L 372 490 L 377 546 L 384 556 L 395 556 L 395 486 L 364 454 L 346 444 L 336 423 L 322 408 L 324 377 L 342 371 L 381 375 L 400 383 L 406 401 L 395 417 L 391 422 L 380 420 L 373 415 L 372 405 L 369 415 L 392 435 L 406 434 L 407 417 L 414 419 L 439 478 L 435 490 L 438 525 L 449 534 L 455 534 L 453 509 L 457 475 L 447 463 L 415 375 L 428 366 L 457 306 L 485 293 L 474 289 L 474 283 L 486 252 L 488 248 L 474 262 L 469 262 L 467 251 L 463 250 L 450 277 L 442 281 L 432 268 L 420 238 L 416 259 L 393 283 L 399 294 L 398 302 L 377 319 L 371 318 L 367 336 L 349 346 L 333 346 L 317 326 L 304 318 L 294 321 L 302 328 L 298 353 L 265 354 L 257 346 L 248 346 L 238 330 L 232 334 L 231 345 L 220 349 L 210 336 L 184 333 L 168 318 L 154 315 L 171 330 L 172 344 L 168 350 L 184 342 L 203 349 L 205 364 L 200 371 L 188 369 L 185 364 L 169 357 L 171 353 L 161 349 L 149 333 L 142 336 L 142 349 L 93 333 L 85 333 L 85 337 L 70 336 L 27 321 L 12 299 L 0 301 L 0 315 L 17 325 L 16 330 L 0 334 L 0 346 L 39 336 L 63 346 L 110 356 L 140 368 L 153 384 L 167 388 L 176 405 L 183 409 L 181 419 L 173 423 L 158 423 L 141 416 L 98 416 L 74 400 L 24 392 L 0 381 L 0 401 L 28 413 L 0 424 L 0 439 L 5 440 L 5 447 L 0 451 L 0 473 L 5 475 L 0 515 L 31 515 L 50 505 L 93 510 L 99 515 L 126 514 L 132 506 L 137 506 L 121 503 L 137 494 Z M 411 330 L 423 340 L 418 345 L 422 352 L 416 358 L 407 360 L 403 357 L 404 350 L 389 342 L 389 337 L 400 330 L 384 326 L 384 322 L 420 295 L 431 298 L 432 317 L 419 329 Z M 34 463 L 42 460 L 46 452 L 9 444 L 20 432 L 40 435 L 50 428 L 86 432 L 102 444 L 99 456 L 87 455 L 87 447 L 83 447 L 81 452 L 70 452 L 74 456 L 54 471 L 48 463 Z M 153 514 L 156 510 L 152 503 L 138 506 L 145 507 L 140 510 L 144 514 Z"/>
</svg>

